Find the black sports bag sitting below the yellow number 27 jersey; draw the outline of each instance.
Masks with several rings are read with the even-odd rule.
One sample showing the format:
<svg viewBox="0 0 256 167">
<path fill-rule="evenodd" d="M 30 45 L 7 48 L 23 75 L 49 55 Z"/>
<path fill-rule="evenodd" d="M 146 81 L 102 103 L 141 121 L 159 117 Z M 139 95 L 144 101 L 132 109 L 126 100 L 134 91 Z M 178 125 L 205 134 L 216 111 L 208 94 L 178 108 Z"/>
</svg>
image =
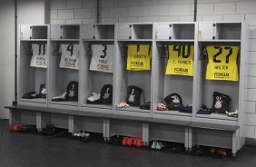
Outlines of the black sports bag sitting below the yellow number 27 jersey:
<svg viewBox="0 0 256 167">
<path fill-rule="evenodd" d="M 214 113 L 231 111 L 231 97 L 223 93 L 214 92 L 211 111 Z"/>
</svg>

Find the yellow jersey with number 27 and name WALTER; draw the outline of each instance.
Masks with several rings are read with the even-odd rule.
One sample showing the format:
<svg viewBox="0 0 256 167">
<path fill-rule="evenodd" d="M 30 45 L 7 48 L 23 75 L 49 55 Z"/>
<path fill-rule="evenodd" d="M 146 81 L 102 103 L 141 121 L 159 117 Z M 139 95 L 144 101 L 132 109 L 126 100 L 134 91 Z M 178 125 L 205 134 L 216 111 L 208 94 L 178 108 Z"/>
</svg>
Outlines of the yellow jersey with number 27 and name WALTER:
<svg viewBox="0 0 256 167">
<path fill-rule="evenodd" d="M 207 80 L 239 81 L 239 46 L 207 45 L 202 54 L 207 55 Z"/>
</svg>

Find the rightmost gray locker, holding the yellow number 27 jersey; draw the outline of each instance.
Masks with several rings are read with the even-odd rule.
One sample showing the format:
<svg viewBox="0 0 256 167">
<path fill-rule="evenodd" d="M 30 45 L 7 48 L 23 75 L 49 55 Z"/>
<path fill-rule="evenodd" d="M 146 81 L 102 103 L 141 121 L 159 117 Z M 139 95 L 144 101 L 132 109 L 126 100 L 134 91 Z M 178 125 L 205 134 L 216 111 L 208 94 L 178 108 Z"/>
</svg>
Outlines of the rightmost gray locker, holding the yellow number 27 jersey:
<svg viewBox="0 0 256 167">
<path fill-rule="evenodd" d="M 199 38 L 199 44 L 198 44 L 198 54 L 197 54 L 197 66 L 195 68 L 196 70 L 196 77 L 197 84 L 196 84 L 196 93 L 199 93 L 198 96 L 201 98 L 198 98 L 197 102 L 200 102 L 200 104 L 205 104 L 208 107 L 212 107 L 212 94 L 213 92 L 219 92 L 219 93 L 225 93 L 231 96 L 231 110 L 238 109 L 239 111 L 242 111 L 241 104 L 243 101 L 241 100 L 241 94 L 244 93 L 241 89 L 241 87 L 246 86 L 243 83 L 243 77 L 244 74 L 244 68 L 245 68 L 245 59 L 246 54 L 244 49 L 245 40 L 241 40 L 241 34 L 244 31 L 244 27 L 241 23 L 214 23 L 215 24 L 215 34 L 218 34 L 216 36 L 215 40 L 209 40 L 204 41 L 204 38 Z M 205 24 L 205 23 L 199 23 L 199 31 L 201 30 L 200 27 L 203 27 L 204 25 L 212 27 L 211 24 Z M 200 32 L 199 32 L 200 33 Z M 244 33 L 242 35 L 245 35 Z M 234 37 L 235 36 L 235 37 Z M 202 34 L 203 37 L 203 34 Z M 239 54 L 238 60 L 240 60 L 238 64 L 238 70 L 239 70 L 239 82 L 231 82 L 231 81 L 222 81 L 222 80 L 206 80 L 205 74 L 207 69 L 207 62 L 206 59 L 202 59 L 201 52 L 202 52 L 202 45 L 236 45 L 241 48 L 241 54 Z M 199 110 L 197 108 L 196 110 Z M 238 118 L 228 117 L 226 114 L 221 113 L 212 113 L 210 115 L 204 115 L 204 114 L 196 114 L 196 119 L 201 120 L 202 118 L 207 119 L 209 118 L 209 122 L 216 123 L 215 120 L 219 120 L 223 124 L 238 124 Z M 228 122 L 231 121 L 231 122 Z"/>
</svg>

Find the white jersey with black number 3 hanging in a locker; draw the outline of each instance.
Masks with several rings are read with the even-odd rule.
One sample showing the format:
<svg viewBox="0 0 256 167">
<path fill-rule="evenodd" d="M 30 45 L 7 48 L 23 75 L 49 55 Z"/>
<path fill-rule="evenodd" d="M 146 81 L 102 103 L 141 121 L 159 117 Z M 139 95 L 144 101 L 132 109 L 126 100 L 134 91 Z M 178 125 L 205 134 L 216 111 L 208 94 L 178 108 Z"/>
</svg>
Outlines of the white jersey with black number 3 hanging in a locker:
<svg viewBox="0 0 256 167">
<path fill-rule="evenodd" d="M 90 70 L 113 73 L 113 44 L 93 44 Z"/>
</svg>

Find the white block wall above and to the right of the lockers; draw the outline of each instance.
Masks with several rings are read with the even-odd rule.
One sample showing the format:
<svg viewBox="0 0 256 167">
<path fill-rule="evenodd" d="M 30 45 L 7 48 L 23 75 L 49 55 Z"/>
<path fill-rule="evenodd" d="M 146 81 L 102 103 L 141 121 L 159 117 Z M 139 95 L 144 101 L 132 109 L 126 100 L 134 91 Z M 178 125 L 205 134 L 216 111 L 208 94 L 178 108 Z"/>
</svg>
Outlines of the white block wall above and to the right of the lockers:
<svg viewBox="0 0 256 167">
<path fill-rule="evenodd" d="M 101 0 L 101 22 L 193 21 L 194 0 Z M 96 22 L 96 0 L 52 0 L 51 24 Z M 251 24 L 248 109 L 244 135 L 256 139 L 256 0 L 198 0 L 197 21 Z"/>
</svg>

